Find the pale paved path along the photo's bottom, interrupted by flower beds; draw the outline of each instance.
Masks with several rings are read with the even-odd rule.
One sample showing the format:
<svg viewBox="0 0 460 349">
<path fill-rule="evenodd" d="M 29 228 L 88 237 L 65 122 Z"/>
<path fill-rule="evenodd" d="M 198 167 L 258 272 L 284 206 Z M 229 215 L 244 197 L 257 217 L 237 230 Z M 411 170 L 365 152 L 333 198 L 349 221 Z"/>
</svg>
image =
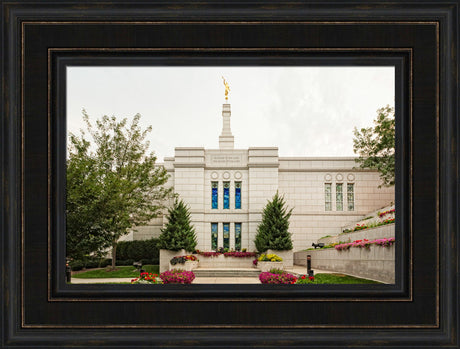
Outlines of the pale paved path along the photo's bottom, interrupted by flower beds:
<svg viewBox="0 0 460 349">
<path fill-rule="evenodd" d="M 294 265 L 286 270 L 288 273 L 298 275 L 307 274 L 307 268 L 299 265 Z M 330 274 L 333 271 L 315 269 L 315 274 Z M 72 278 L 72 284 L 103 284 L 112 282 L 131 282 L 132 278 L 101 278 L 101 279 L 82 279 Z M 194 284 L 259 284 L 257 277 L 197 277 L 193 280 Z"/>
</svg>

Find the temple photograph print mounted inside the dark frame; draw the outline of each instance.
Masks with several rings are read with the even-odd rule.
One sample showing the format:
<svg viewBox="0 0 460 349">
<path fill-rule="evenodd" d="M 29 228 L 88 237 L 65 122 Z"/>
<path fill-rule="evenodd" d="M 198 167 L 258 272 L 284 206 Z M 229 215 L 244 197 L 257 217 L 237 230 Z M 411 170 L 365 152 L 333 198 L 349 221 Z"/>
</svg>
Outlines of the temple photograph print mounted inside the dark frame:
<svg viewBox="0 0 460 349">
<path fill-rule="evenodd" d="M 323 275 L 323 267 L 327 269 L 325 272 L 333 269 L 373 279 L 354 282 L 395 283 L 394 104 L 402 100 L 401 96 L 395 98 L 395 75 L 396 71 L 401 72 L 399 63 L 382 59 L 374 63 L 380 66 L 367 66 L 364 62 L 359 66 L 356 58 L 355 66 L 340 61 L 330 61 L 335 66 L 325 66 L 319 61 L 304 60 L 303 64 L 323 66 L 285 67 L 260 66 L 262 62 L 260 58 L 259 66 L 231 67 L 87 66 L 81 59 L 77 66 L 66 62 L 65 72 L 59 73 L 66 76 L 66 110 L 59 114 L 66 115 L 67 125 L 68 153 L 62 159 L 67 162 L 67 199 L 65 204 L 58 205 L 66 207 L 66 246 L 56 249 L 67 251 L 65 257 L 74 272 L 71 283 L 120 282 L 114 278 L 122 270 L 133 270 L 131 265 L 138 263 L 135 261 L 143 261 L 143 269 L 151 274 L 169 268 L 188 268 L 195 277 L 193 284 L 259 284 L 261 271 L 267 273 L 262 278 L 270 278 L 267 282 L 291 283 L 295 278 L 305 280 L 309 275 L 307 256 L 316 273 L 316 279 L 309 276 L 312 282 L 332 277 Z M 272 59 L 270 64 L 275 61 Z M 128 120 L 140 124 L 139 142 L 133 141 L 131 128 L 125 131 L 130 137 L 117 142 L 115 137 L 110 142 L 103 141 L 96 130 L 100 134 L 109 132 L 95 119 L 100 119 L 104 110 L 111 110 L 108 114 L 114 115 L 115 120 L 120 114 L 138 113 L 136 116 L 131 113 Z M 186 120 L 184 115 L 188 115 Z M 353 151 L 360 148 L 368 152 L 358 145 L 362 141 L 370 144 L 361 133 L 364 131 L 359 130 L 373 127 L 378 117 L 383 118 L 378 124 L 385 127 L 390 140 L 388 155 L 382 158 L 382 166 L 391 172 L 388 178 L 386 172 L 380 174 L 365 163 L 359 165 Z M 106 125 L 117 123 L 111 118 L 101 121 Z M 115 124 L 111 128 L 117 128 Z M 145 138 L 141 138 L 142 128 L 150 130 Z M 398 128 L 404 129 L 399 124 Z M 82 134 L 81 129 L 89 134 Z M 92 146 L 81 147 L 83 138 Z M 398 142 L 400 138 L 398 135 Z M 155 151 L 156 161 L 150 165 L 154 181 L 142 184 L 141 190 L 133 183 L 144 183 L 140 182 L 143 172 L 135 172 L 138 174 L 135 179 L 132 168 L 142 168 L 145 161 L 135 161 L 131 156 L 130 162 L 125 154 L 129 153 L 128 148 L 146 153 L 147 148 L 138 148 L 138 144 L 147 142 Z M 125 160 L 117 161 L 122 158 Z M 88 159 L 94 166 L 89 165 Z M 107 174 L 108 161 L 113 163 L 109 170 L 112 174 Z M 81 171 L 82 168 L 85 170 Z M 160 171 L 163 168 L 166 171 Z M 89 174 L 92 171 L 94 175 Z M 123 193 L 114 194 L 115 180 L 130 185 L 121 185 Z M 161 181 L 165 184 L 158 185 Z M 98 194 L 92 194 L 93 189 L 102 186 L 107 191 L 97 189 Z M 173 191 L 162 191 L 165 186 Z M 139 192 L 146 193 L 145 199 Z M 133 193 L 137 200 L 125 199 Z M 273 202 L 277 193 L 284 203 Z M 145 206 L 141 212 L 145 218 L 136 214 L 143 202 L 158 202 L 159 196 L 172 210 L 175 207 L 170 202 L 172 194 L 185 204 L 184 211 L 179 210 L 182 207 L 179 205 L 170 212 L 158 211 L 158 203 Z M 116 205 L 118 214 L 108 204 L 108 197 L 114 196 L 120 198 Z M 278 211 L 279 206 L 285 207 L 284 214 Z M 147 210 L 155 216 L 153 220 Z M 110 218 L 128 211 L 131 216 L 126 216 L 127 225 L 120 219 L 117 222 L 120 228 L 113 228 Z M 189 212 L 189 219 L 184 217 L 183 230 L 176 229 L 179 221 L 176 214 L 185 211 Z M 86 219 L 82 219 L 83 215 Z M 137 219 L 134 227 L 128 217 Z M 110 222 L 111 228 L 94 228 L 104 226 L 103 221 Z M 277 226 L 283 225 L 284 230 L 278 231 Z M 103 230 L 117 233 L 104 234 Z M 193 236 L 192 246 L 186 245 L 188 239 L 183 235 L 175 237 L 181 231 L 189 231 Z M 270 237 L 262 239 L 265 235 Z M 95 238 L 101 236 L 102 239 Z M 182 241 L 181 244 L 176 240 Z M 282 243 L 275 245 L 277 240 Z M 353 241 L 358 241 L 354 243 L 357 248 L 350 250 Z M 153 246 L 158 242 L 163 247 L 160 250 Z M 343 263 L 335 269 L 329 265 L 332 261 L 321 264 L 322 256 L 331 251 L 312 251 L 312 246 L 319 247 L 318 244 L 323 246 L 321 249 L 335 247 L 343 251 L 333 254 L 350 259 L 351 264 Z M 361 258 L 363 246 L 365 254 Z M 339 250 L 341 247 L 346 248 Z M 187 248 L 189 254 L 180 252 L 182 248 Z M 276 252 L 257 254 L 266 250 Z M 369 263 L 376 251 L 378 262 Z M 165 255 L 168 257 L 164 258 Z M 269 255 L 279 261 L 268 261 Z M 170 260 L 174 263 L 171 266 Z M 109 264 L 109 272 L 81 272 L 85 266 Z M 153 265 L 159 265 L 158 270 Z M 270 269 L 276 269 L 280 273 L 276 275 L 282 276 L 268 274 Z M 86 277 L 95 273 L 99 278 Z M 166 275 L 160 274 L 160 279 L 162 276 Z M 135 271 L 124 282 L 137 277 L 139 272 Z M 342 281 L 350 280 L 337 280 Z"/>
</svg>

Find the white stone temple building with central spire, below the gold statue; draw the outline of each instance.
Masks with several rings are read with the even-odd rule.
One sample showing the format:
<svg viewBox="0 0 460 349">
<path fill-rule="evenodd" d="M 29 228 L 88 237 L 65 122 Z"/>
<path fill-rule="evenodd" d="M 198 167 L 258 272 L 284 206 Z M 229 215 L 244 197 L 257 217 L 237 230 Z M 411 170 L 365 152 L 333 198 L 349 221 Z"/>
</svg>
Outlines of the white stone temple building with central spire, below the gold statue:
<svg viewBox="0 0 460 349">
<path fill-rule="evenodd" d="M 168 185 L 190 207 L 199 250 L 255 250 L 262 210 L 276 191 L 293 208 L 294 251 L 394 202 L 394 187 L 379 188 L 379 173 L 360 169 L 353 157 L 280 157 L 277 147 L 235 149 L 230 121 L 226 102 L 219 149 L 178 147 L 159 164 L 170 175 Z M 128 239 L 158 237 L 165 223 L 165 216 L 157 218 Z"/>
</svg>

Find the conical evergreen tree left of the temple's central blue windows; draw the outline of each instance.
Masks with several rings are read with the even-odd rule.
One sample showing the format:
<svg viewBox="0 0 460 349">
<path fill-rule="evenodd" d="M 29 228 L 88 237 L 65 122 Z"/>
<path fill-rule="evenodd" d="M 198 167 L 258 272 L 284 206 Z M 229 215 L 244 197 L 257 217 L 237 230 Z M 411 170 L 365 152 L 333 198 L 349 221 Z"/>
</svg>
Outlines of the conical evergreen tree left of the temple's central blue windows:
<svg viewBox="0 0 460 349">
<path fill-rule="evenodd" d="M 185 249 L 192 252 L 196 247 L 195 229 L 190 220 L 188 207 L 182 200 L 175 200 L 168 209 L 168 223 L 161 230 L 158 247 L 178 251 Z"/>
</svg>

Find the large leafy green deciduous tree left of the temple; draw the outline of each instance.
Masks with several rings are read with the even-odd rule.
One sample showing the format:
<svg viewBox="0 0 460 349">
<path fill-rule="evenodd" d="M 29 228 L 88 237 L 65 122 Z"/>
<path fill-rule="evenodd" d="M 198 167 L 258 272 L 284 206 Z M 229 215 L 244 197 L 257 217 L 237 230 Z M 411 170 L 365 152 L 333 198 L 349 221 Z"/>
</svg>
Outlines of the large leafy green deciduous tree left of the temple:
<svg viewBox="0 0 460 349">
<path fill-rule="evenodd" d="M 126 118 L 103 116 L 93 125 L 83 110 L 85 131 L 70 134 L 67 160 L 67 254 L 79 245 L 92 252 L 112 248 L 116 263 L 119 238 L 136 226 L 157 217 L 172 196 L 163 166 L 149 152 L 140 115 Z M 92 242 L 92 243 L 91 243 Z"/>
</svg>

